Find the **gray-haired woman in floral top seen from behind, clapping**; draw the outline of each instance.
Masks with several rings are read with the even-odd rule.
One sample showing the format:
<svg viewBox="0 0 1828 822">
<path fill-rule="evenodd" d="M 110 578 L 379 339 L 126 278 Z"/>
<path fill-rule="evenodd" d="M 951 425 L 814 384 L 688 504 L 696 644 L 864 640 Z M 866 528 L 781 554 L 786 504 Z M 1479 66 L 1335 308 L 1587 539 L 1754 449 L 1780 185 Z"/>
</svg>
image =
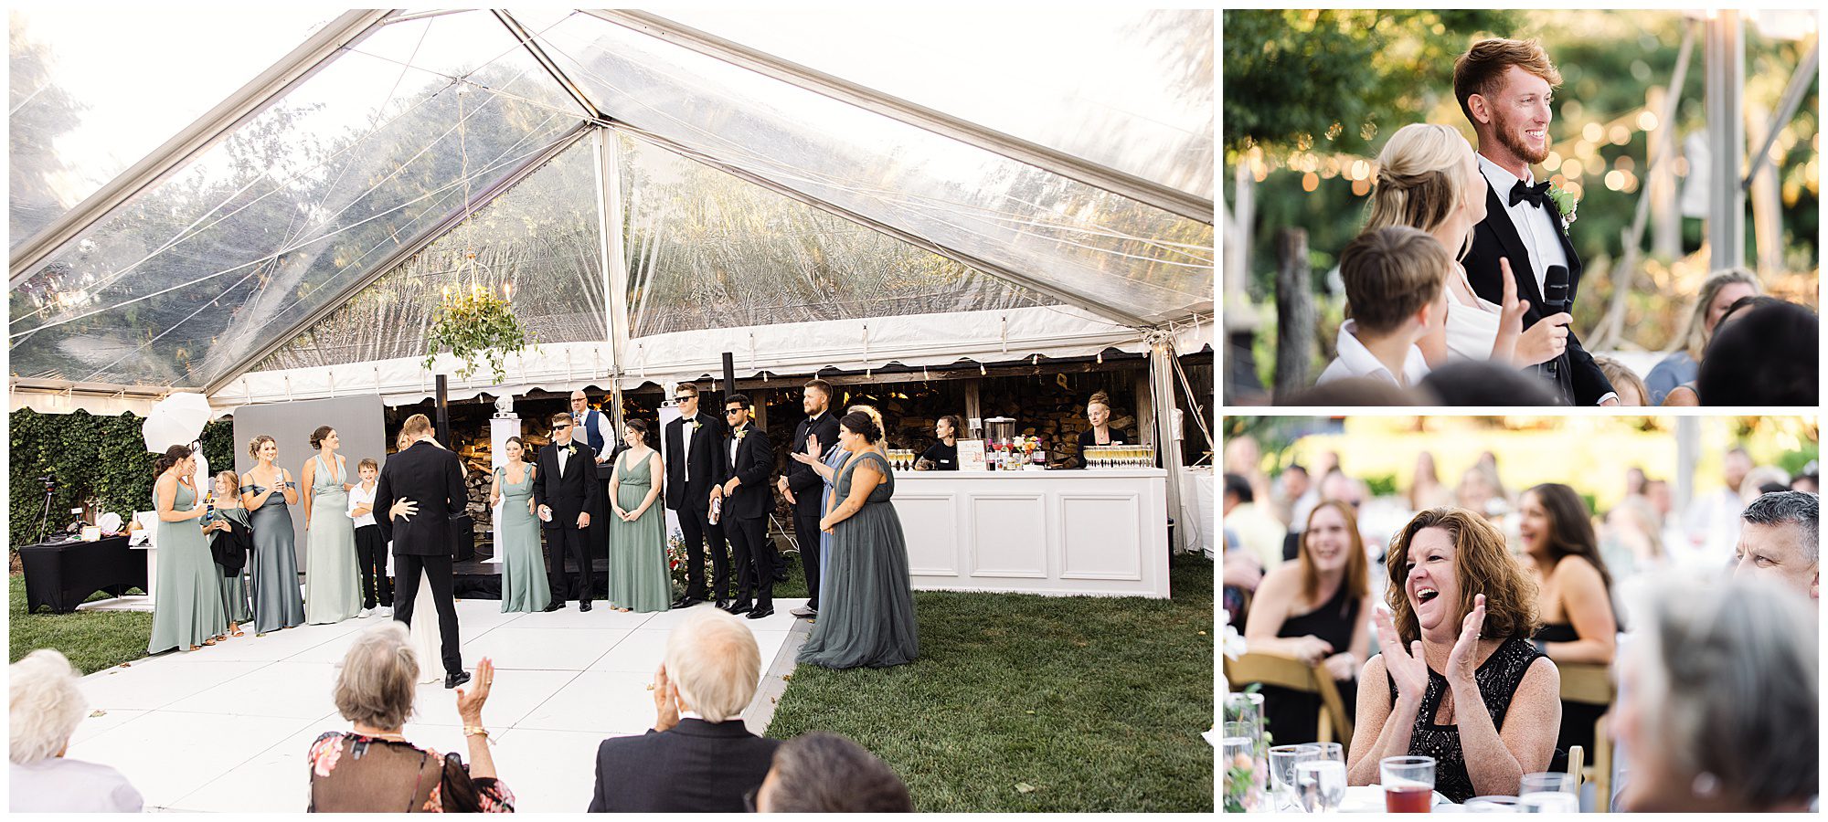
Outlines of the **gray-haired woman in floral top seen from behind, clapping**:
<svg viewBox="0 0 1828 822">
<path fill-rule="evenodd" d="M 457 716 L 470 743 L 470 765 L 457 754 L 406 742 L 413 714 L 419 658 L 406 625 L 364 630 L 336 676 L 336 711 L 355 727 L 311 743 L 313 813 L 512 813 L 514 793 L 495 778 L 483 727 L 483 703 L 495 667 L 483 658 L 475 689 L 457 689 Z"/>
</svg>

